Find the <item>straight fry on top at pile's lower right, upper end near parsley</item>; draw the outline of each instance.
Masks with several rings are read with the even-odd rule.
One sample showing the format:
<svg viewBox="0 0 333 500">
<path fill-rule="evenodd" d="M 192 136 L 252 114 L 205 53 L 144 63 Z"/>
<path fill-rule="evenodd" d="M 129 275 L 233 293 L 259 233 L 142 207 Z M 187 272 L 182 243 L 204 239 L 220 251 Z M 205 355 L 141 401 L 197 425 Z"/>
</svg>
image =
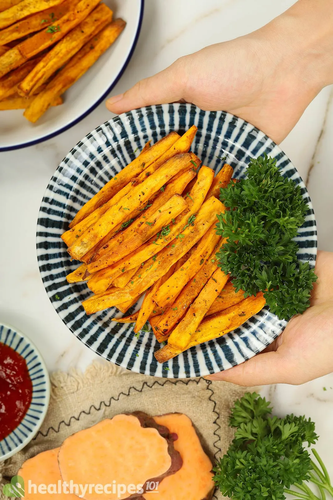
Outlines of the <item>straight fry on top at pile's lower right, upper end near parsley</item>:
<svg viewBox="0 0 333 500">
<path fill-rule="evenodd" d="M 171 335 L 168 339 L 168 344 L 179 348 L 182 351 L 187 348 L 192 339 L 192 335 L 197 330 L 197 327 L 202 321 L 204 315 L 228 281 L 228 277 L 229 276 L 225 274 L 219 267 L 215 270 L 214 274 L 205 284 L 205 286 L 185 314 L 184 318 L 171 332 Z M 156 359 L 158 359 L 158 357 L 156 357 Z"/>
</svg>

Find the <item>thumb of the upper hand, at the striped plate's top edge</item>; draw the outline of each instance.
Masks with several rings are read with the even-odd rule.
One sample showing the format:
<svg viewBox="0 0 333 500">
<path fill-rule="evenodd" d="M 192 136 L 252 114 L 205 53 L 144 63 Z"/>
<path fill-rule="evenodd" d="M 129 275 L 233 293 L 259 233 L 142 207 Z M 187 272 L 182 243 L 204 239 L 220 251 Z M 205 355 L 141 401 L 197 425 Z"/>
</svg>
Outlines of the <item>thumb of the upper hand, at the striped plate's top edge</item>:
<svg viewBox="0 0 333 500">
<path fill-rule="evenodd" d="M 160 73 L 138 81 L 123 94 L 106 101 L 109 111 L 119 114 L 150 104 L 175 102 L 183 97 L 184 71 L 178 71 L 178 60 Z"/>
</svg>

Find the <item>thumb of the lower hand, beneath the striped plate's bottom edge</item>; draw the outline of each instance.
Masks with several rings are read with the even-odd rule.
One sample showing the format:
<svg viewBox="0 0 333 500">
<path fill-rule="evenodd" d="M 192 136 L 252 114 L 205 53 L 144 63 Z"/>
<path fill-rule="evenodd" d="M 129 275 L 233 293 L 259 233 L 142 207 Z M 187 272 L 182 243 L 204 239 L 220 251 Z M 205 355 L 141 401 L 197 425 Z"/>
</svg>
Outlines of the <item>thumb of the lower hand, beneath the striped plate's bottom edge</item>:
<svg viewBox="0 0 333 500">
<path fill-rule="evenodd" d="M 205 376 L 208 380 L 225 380 L 237 385 L 267 385 L 271 383 L 288 383 L 289 369 L 279 352 L 263 352 L 242 364 L 220 373 Z"/>
</svg>

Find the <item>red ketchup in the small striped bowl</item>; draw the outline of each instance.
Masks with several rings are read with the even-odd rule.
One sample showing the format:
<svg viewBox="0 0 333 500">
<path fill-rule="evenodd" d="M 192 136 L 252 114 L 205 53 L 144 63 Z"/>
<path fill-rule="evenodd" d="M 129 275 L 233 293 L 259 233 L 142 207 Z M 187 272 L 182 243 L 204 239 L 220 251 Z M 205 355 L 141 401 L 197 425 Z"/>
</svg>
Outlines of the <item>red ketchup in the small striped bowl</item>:
<svg viewBox="0 0 333 500">
<path fill-rule="evenodd" d="M 25 359 L 0 342 L 0 441 L 23 420 L 32 398 Z"/>
</svg>

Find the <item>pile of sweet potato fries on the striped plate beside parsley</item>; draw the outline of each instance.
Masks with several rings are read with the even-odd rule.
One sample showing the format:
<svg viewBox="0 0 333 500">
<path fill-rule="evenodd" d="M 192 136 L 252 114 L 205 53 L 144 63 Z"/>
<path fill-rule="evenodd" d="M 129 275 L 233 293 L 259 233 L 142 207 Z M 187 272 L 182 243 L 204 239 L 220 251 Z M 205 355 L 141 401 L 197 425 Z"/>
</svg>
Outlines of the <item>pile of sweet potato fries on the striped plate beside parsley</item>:
<svg viewBox="0 0 333 500">
<path fill-rule="evenodd" d="M 94 295 L 87 314 L 116 306 L 125 313 L 145 292 L 140 309 L 118 322 L 149 320 L 159 342 L 159 362 L 219 337 L 265 305 L 262 293 L 244 298 L 215 256 L 224 240 L 216 234 L 225 206 L 220 187 L 232 181 L 225 164 L 201 166 L 188 152 L 196 134 L 171 132 L 139 156 L 87 201 L 62 234 L 68 253 L 82 264 L 70 283 L 86 280 Z M 167 340 L 167 343 L 166 343 Z"/>
</svg>

